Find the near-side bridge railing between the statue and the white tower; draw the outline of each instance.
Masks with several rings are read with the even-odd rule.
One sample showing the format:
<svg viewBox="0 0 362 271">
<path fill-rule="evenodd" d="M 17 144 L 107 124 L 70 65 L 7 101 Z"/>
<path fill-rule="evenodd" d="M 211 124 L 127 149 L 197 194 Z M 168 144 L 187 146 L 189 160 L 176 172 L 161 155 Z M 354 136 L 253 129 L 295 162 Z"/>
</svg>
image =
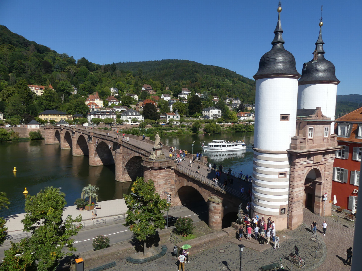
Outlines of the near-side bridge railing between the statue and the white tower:
<svg viewBox="0 0 362 271">
<path fill-rule="evenodd" d="M 206 176 L 203 176 L 197 172 L 194 172 L 191 169 L 185 168 L 183 166 L 177 166 L 176 168 L 179 172 L 184 173 L 193 179 L 202 182 L 203 184 L 206 184 L 210 187 L 214 187 L 216 190 L 219 190 L 221 192 L 225 192 L 225 194 L 231 194 L 233 196 L 236 196 L 237 198 L 241 198 L 242 200 L 248 200 L 247 195 L 242 194 L 240 191 L 233 189 L 229 186 L 224 186 L 222 183 L 218 183 L 218 186 L 215 186 L 215 182 Z"/>
</svg>

